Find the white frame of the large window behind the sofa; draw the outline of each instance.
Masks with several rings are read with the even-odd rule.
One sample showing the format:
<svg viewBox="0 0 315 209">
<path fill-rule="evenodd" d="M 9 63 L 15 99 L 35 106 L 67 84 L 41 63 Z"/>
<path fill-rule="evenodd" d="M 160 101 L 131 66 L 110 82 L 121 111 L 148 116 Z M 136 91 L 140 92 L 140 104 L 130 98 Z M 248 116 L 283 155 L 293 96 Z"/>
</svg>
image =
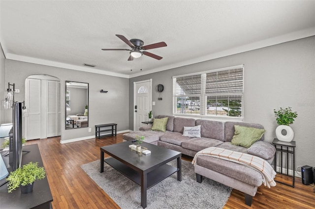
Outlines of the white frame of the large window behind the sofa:
<svg viewBox="0 0 315 209">
<path fill-rule="evenodd" d="M 224 92 L 224 93 L 206 93 L 206 86 L 207 86 L 207 78 L 206 75 L 208 73 L 216 73 L 216 72 L 222 72 L 222 71 L 229 71 L 229 70 L 235 70 L 235 69 L 242 69 L 242 87 L 241 87 L 241 92 Z M 196 72 L 196 73 L 191 73 L 191 74 L 185 74 L 185 75 L 179 75 L 179 76 L 173 76 L 173 115 L 176 116 L 185 116 L 185 117 L 192 117 L 192 118 L 209 118 L 209 119 L 216 119 L 216 120 L 224 120 L 224 121 L 243 121 L 244 120 L 244 64 L 243 65 L 236 65 L 236 66 L 231 66 L 231 67 L 225 67 L 225 68 L 219 68 L 219 69 L 214 69 L 214 70 L 207 70 L 207 71 L 202 71 L 202 72 Z M 200 94 L 177 94 L 177 78 L 184 78 L 184 77 L 190 77 L 190 76 L 196 76 L 200 75 L 201 76 L 201 81 L 200 81 Z M 203 80 L 204 79 L 204 80 Z M 230 83 L 230 81 L 228 81 Z M 239 88 L 240 89 L 240 88 Z M 210 115 L 207 114 L 207 98 L 208 96 L 239 96 L 241 98 L 241 116 L 227 116 L 227 115 Z M 180 97 L 199 97 L 199 113 L 178 113 L 177 112 L 177 98 Z M 228 99 L 229 101 L 230 99 Z M 182 105 L 181 105 L 182 106 Z M 229 107 L 229 106 L 228 106 Z"/>
</svg>

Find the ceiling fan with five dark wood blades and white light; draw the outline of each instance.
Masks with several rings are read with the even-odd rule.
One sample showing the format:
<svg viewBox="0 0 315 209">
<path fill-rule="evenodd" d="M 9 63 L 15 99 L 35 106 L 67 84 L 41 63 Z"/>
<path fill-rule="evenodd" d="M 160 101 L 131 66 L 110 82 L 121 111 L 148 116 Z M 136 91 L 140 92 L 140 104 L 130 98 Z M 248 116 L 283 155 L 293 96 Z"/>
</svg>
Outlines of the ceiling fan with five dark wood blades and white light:
<svg viewBox="0 0 315 209">
<path fill-rule="evenodd" d="M 128 58 L 128 61 L 133 60 L 133 58 L 139 58 L 140 56 L 147 55 L 150 56 L 152 58 L 155 59 L 162 59 L 163 57 L 158 56 L 154 53 L 150 53 L 150 52 L 146 52 L 146 51 L 140 51 L 140 50 L 151 50 L 151 49 L 156 49 L 156 48 L 160 48 L 160 47 L 166 47 L 167 45 L 165 44 L 165 42 L 158 42 L 155 44 L 150 44 L 150 45 L 146 45 L 143 46 L 144 42 L 140 39 L 130 39 L 128 40 L 125 36 L 123 35 L 118 35 L 116 34 L 116 36 L 118 38 L 120 38 L 121 40 L 123 40 L 129 47 L 131 47 L 131 50 L 129 49 L 102 49 L 103 51 L 116 51 L 116 50 L 126 50 L 126 51 L 130 51 L 130 56 Z"/>
</svg>

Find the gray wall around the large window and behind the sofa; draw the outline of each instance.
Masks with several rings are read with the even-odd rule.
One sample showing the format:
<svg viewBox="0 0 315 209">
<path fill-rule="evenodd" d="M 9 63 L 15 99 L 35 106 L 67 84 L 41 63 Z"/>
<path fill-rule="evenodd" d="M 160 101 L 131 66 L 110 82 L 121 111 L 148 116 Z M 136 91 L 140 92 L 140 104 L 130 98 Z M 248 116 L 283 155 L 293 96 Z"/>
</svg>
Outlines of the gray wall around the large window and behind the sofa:
<svg viewBox="0 0 315 209">
<path fill-rule="evenodd" d="M 296 141 L 296 165 L 315 166 L 315 36 L 250 52 L 129 79 L 129 129 L 133 130 L 133 82 L 152 78 L 153 115 L 172 115 L 172 76 L 244 64 L 244 122 L 264 126 L 271 142 L 277 128 L 273 109 L 298 112 L 290 125 Z M 145 69 L 143 69 L 145 70 Z M 161 83 L 163 100 L 156 86 Z"/>
</svg>

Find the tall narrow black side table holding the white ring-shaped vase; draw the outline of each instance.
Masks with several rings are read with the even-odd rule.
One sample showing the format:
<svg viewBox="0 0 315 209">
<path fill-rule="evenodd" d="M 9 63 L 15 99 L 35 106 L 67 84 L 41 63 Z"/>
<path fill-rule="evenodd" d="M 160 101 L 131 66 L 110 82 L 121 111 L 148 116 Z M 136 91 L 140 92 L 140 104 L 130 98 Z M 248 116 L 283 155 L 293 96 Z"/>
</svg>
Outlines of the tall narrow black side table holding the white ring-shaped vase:
<svg viewBox="0 0 315 209">
<path fill-rule="evenodd" d="M 283 183 L 283 182 L 279 182 L 279 183 L 283 183 L 287 186 L 292 186 L 294 187 L 294 181 L 295 181 L 295 141 L 290 141 L 290 142 L 285 142 L 285 141 L 280 141 L 277 138 L 275 138 L 272 142 L 272 144 L 275 146 L 276 148 L 276 153 L 275 153 L 275 159 L 274 159 L 274 164 L 275 164 L 275 171 L 277 172 L 277 152 L 281 152 L 281 170 L 280 172 L 277 172 L 279 174 L 288 176 L 292 178 L 292 184 L 287 184 L 287 183 Z M 289 150 L 290 148 L 290 150 Z M 283 172 L 283 154 L 286 153 L 286 173 Z M 292 161 L 293 161 L 293 176 L 289 175 L 288 171 L 289 171 L 289 154 L 292 155 Z"/>
</svg>

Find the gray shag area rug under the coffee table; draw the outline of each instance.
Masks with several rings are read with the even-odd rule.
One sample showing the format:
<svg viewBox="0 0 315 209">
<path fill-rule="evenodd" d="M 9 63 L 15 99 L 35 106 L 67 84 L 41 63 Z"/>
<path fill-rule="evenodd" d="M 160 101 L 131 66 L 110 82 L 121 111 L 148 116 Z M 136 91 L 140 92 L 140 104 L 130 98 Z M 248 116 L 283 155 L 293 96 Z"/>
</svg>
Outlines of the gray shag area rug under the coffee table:
<svg viewBox="0 0 315 209">
<path fill-rule="evenodd" d="M 168 164 L 176 167 L 176 160 Z M 140 186 L 104 163 L 99 173 L 99 160 L 81 168 L 122 209 L 142 209 Z M 196 182 L 191 162 L 182 160 L 182 181 L 173 174 L 147 190 L 147 209 L 221 209 L 231 195 L 232 188 L 204 178 Z"/>
</svg>

